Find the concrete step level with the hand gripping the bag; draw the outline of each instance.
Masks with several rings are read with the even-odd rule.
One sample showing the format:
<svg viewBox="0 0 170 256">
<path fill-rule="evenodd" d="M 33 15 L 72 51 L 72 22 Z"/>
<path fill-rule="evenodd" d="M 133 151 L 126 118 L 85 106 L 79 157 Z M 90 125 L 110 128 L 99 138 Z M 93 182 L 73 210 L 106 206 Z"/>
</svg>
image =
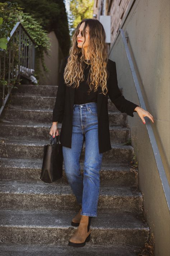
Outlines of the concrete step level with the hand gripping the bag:
<svg viewBox="0 0 170 256">
<path fill-rule="evenodd" d="M 52 123 L 51 123 L 52 125 Z M 51 125 L 38 123 L 36 121 L 1 120 L 1 136 L 8 138 L 23 139 L 51 139 L 49 131 Z M 57 125 L 61 130 L 61 124 Z M 130 129 L 122 126 L 110 127 L 110 139 L 113 143 L 126 143 L 130 138 Z"/>
</svg>

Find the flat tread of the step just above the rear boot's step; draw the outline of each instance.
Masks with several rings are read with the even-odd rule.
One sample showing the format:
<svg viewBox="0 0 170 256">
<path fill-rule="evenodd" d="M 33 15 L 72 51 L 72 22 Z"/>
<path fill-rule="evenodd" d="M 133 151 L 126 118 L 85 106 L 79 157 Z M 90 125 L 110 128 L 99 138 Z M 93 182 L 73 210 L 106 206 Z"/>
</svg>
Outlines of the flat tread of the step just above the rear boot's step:
<svg viewBox="0 0 170 256">
<path fill-rule="evenodd" d="M 73 194 L 69 184 L 60 183 L 56 180 L 53 183 L 38 181 L 13 181 L 1 180 L 0 193 L 14 194 Z M 131 187 L 113 187 L 111 185 L 100 185 L 100 194 L 103 196 L 115 197 L 141 197 L 141 192 Z"/>
</svg>

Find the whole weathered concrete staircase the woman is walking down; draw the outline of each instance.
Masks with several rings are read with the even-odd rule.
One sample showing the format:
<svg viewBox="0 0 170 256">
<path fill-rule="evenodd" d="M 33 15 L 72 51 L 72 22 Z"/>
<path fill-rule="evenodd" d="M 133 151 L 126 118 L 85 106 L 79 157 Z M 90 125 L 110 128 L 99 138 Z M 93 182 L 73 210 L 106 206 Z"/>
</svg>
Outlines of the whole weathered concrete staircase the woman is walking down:
<svg viewBox="0 0 170 256">
<path fill-rule="evenodd" d="M 39 179 L 57 86 L 18 87 L 0 119 L 0 255 L 137 255 L 150 230 L 142 216 L 138 170 L 130 165 L 133 147 L 124 145 L 130 138 L 127 114 L 109 100 L 112 150 L 103 154 L 98 217 L 91 220 L 90 242 L 73 248 L 67 243 L 79 208 L 65 172 L 51 184 Z"/>
</svg>

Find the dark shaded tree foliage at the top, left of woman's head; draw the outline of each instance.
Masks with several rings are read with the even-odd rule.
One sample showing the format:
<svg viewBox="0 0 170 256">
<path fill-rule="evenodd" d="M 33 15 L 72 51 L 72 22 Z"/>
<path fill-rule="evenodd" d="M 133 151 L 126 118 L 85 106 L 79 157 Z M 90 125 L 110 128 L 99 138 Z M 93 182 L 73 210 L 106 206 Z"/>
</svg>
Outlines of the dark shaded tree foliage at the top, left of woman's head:
<svg viewBox="0 0 170 256">
<path fill-rule="evenodd" d="M 6 1 L 0 0 L 0 2 L 4 3 Z M 53 31 L 55 33 L 62 54 L 64 56 L 67 56 L 69 54 L 71 41 L 69 35 L 69 24 L 65 8 L 65 1 L 10 0 L 10 3 L 15 2 L 17 2 L 18 6 L 22 8 L 23 13 L 31 15 L 34 20 L 38 21 L 44 31 L 46 31 L 47 33 Z M 86 4 L 88 4 L 87 1 Z"/>
</svg>

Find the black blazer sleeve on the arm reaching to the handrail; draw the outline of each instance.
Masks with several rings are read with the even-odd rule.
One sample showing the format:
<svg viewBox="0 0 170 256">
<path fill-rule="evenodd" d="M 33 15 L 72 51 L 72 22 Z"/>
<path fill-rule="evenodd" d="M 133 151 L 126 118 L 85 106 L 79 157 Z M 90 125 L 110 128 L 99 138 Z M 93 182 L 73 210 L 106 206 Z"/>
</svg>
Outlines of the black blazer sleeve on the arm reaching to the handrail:
<svg viewBox="0 0 170 256">
<path fill-rule="evenodd" d="M 122 113 L 127 113 L 133 117 L 134 109 L 139 105 L 127 100 L 122 95 L 118 87 L 116 63 L 110 60 L 109 77 L 108 77 L 108 95 L 110 100 L 115 104 L 117 109 Z"/>
</svg>

